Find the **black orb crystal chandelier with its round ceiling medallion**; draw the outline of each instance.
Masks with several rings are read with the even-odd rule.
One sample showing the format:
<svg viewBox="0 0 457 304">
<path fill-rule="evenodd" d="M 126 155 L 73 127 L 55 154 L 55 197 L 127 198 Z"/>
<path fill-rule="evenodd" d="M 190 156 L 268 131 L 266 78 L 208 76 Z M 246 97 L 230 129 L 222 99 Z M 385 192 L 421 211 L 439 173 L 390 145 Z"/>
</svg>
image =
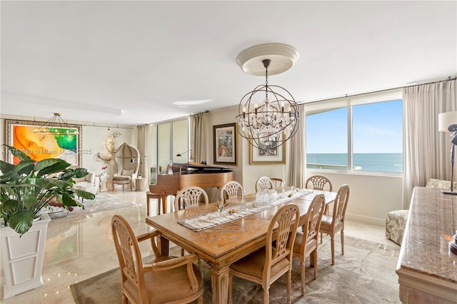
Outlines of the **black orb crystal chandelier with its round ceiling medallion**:
<svg viewBox="0 0 457 304">
<path fill-rule="evenodd" d="M 290 69 L 297 58 L 296 50 L 286 44 L 261 44 L 238 55 L 238 64 L 246 73 L 259 75 L 260 70 L 253 66 L 260 63 L 265 70 L 265 84 L 241 98 L 236 116 L 239 134 L 256 148 L 282 146 L 298 130 L 298 104 L 293 96 L 286 88 L 268 84 L 268 67 L 273 60 L 278 61 L 273 74 L 279 74 Z"/>
</svg>

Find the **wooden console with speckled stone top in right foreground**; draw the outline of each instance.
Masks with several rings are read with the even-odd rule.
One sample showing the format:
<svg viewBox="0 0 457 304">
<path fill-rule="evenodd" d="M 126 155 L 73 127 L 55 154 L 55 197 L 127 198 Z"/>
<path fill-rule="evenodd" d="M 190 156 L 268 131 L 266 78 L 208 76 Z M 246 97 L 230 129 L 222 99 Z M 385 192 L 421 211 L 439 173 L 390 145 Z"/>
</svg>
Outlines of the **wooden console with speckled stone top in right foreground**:
<svg viewBox="0 0 457 304">
<path fill-rule="evenodd" d="M 457 196 L 414 188 L 396 270 L 403 303 L 457 303 L 456 229 Z"/>
</svg>

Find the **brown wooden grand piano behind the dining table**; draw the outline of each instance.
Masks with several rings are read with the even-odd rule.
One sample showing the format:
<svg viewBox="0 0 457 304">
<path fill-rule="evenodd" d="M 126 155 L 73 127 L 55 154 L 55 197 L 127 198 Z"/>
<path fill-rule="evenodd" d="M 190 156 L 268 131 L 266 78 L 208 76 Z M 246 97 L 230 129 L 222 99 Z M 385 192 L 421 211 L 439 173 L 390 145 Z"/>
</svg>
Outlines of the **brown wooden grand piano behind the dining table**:
<svg viewBox="0 0 457 304">
<path fill-rule="evenodd" d="M 212 188 L 224 186 L 224 183 L 233 181 L 231 168 L 206 166 L 199 163 L 174 163 L 167 171 L 172 174 L 157 176 L 155 185 L 149 185 L 149 191 L 159 195 L 159 206 L 167 212 L 167 196 L 173 196 L 183 188 L 198 186 Z"/>
</svg>

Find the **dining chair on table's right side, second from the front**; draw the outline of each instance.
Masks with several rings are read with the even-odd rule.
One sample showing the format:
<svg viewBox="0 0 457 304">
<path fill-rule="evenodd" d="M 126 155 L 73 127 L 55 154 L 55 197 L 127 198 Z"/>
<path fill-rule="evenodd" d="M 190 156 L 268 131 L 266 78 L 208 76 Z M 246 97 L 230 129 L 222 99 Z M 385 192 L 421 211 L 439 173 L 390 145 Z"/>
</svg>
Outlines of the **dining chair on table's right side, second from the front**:
<svg viewBox="0 0 457 304">
<path fill-rule="evenodd" d="M 305 295 L 305 261 L 308 255 L 311 265 L 314 266 L 314 278 L 317 278 L 318 235 L 325 201 L 326 197 L 323 194 L 313 198 L 306 212 L 305 222 L 301 226 L 302 231 L 297 231 L 293 243 L 293 257 L 298 258 L 301 264 L 301 295 Z"/>
</svg>

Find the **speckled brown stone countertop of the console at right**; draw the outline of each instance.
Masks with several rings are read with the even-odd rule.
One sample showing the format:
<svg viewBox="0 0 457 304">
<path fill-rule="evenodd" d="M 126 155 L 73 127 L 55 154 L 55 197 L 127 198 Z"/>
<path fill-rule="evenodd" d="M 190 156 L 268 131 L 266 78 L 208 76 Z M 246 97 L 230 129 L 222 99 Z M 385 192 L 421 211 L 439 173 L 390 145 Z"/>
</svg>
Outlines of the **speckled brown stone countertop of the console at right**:
<svg viewBox="0 0 457 304">
<path fill-rule="evenodd" d="M 448 242 L 457 229 L 457 196 L 414 188 L 398 268 L 457 283 L 457 255 Z"/>
</svg>

